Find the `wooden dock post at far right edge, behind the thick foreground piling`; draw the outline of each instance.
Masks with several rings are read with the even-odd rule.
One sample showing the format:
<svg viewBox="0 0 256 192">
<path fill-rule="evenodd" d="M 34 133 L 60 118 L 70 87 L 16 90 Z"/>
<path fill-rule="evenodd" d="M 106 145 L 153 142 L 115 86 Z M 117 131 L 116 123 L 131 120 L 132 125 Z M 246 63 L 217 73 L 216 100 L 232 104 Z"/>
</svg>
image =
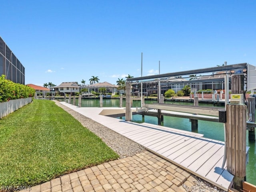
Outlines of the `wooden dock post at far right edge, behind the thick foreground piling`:
<svg viewBox="0 0 256 192">
<path fill-rule="evenodd" d="M 248 111 L 248 121 L 255 122 L 255 97 L 248 97 L 247 98 L 247 111 Z M 252 127 L 248 130 L 248 139 L 250 141 L 255 141 L 255 128 Z"/>
</svg>

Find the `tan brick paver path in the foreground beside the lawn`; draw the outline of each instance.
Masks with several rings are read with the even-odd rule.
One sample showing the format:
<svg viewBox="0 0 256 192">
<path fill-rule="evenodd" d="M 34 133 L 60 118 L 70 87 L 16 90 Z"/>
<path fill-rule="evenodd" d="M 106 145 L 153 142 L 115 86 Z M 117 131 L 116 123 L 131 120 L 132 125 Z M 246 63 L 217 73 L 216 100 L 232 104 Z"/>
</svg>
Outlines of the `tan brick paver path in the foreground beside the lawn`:
<svg viewBox="0 0 256 192">
<path fill-rule="evenodd" d="M 33 186 L 31 192 L 184 192 L 195 176 L 144 151 Z M 23 191 L 26 192 L 26 191 Z"/>
</svg>

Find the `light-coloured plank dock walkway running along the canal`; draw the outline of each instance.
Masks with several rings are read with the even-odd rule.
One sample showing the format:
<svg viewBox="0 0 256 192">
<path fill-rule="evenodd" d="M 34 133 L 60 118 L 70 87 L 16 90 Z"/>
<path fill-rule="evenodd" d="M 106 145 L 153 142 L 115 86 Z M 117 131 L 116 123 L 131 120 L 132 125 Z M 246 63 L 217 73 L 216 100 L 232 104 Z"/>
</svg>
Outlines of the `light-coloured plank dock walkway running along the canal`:
<svg viewBox="0 0 256 192">
<path fill-rule="evenodd" d="M 61 103 L 223 190 L 227 191 L 233 184 L 234 176 L 226 170 L 226 164 L 224 169 L 221 168 L 224 142 L 193 132 L 104 116 L 114 110 L 121 112 L 122 108 L 78 108 Z"/>
</svg>

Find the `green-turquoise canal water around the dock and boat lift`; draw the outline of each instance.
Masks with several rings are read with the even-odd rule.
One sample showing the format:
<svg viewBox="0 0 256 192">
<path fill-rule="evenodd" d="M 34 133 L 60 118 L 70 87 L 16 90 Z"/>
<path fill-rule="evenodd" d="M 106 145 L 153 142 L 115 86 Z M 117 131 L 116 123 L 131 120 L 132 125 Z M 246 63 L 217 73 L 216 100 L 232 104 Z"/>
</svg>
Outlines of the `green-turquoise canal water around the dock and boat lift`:
<svg viewBox="0 0 256 192">
<path fill-rule="evenodd" d="M 145 100 L 146 104 L 152 104 L 156 101 Z M 73 100 L 71 101 L 73 103 Z M 191 102 L 170 102 L 165 101 L 168 104 L 181 104 L 181 105 L 193 105 Z M 126 102 L 123 101 L 123 107 L 125 107 Z M 76 106 L 78 106 L 78 99 L 76 99 Z M 213 104 L 199 103 L 199 106 L 213 106 Z M 82 107 L 100 107 L 99 99 L 82 99 Z M 103 107 L 119 107 L 119 99 L 103 99 Z M 140 100 L 134 100 L 132 107 L 140 107 Z M 223 106 L 224 108 L 224 106 Z M 122 117 L 125 119 L 125 117 Z M 158 119 L 156 117 L 144 116 L 144 121 L 142 121 L 141 115 L 132 116 L 132 121 L 142 123 L 147 122 L 150 124 L 158 124 Z M 168 117 L 164 116 L 163 126 L 176 128 L 180 130 L 191 131 L 191 122 L 187 118 L 178 117 Z M 198 120 L 198 133 L 204 134 L 204 137 L 211 138 L 215 140 L 224 141 L 224 125 L 218 122 L 209 122 Z M 256 185 L 256 143 L 248 141 L 248 132 L 246 136 L 246 145 L 250 147 L 249 149 L 249 163 L 246 167 L 246 181 L 251 184 Z"/>
</svg>

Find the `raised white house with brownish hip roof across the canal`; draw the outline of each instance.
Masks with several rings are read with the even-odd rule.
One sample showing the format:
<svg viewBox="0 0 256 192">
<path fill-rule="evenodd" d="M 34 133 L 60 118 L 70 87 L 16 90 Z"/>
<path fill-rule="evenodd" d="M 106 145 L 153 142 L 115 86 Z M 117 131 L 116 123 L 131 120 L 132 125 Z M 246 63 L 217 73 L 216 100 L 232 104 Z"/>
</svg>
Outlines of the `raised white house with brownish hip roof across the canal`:
<svg viewBox="0 0 256 192">
<path fill-rule="evenodd" d="M 62 96 L 64 94 L 74 96 L 77 92 L 80 92 L 80 86 L 77 82 L 62 82 L 60 85 L 51 88 L 54 88 L 55 92 L 59 92 Z"/>
</svg>

